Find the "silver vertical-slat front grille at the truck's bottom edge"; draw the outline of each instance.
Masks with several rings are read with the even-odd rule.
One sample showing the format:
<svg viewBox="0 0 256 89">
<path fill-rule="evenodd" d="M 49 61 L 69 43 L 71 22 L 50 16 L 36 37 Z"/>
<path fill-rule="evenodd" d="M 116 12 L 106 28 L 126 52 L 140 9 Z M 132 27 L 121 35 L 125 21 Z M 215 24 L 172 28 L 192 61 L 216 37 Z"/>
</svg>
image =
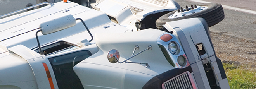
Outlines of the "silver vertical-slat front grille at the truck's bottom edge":
<svg viewBox="0 0 256 89">
<path fill-rule="evenodd" d="M 192 84 L 194 81 L 187 71 L 164 82 L 162 89 L 194 89 Z"/>
</svg>

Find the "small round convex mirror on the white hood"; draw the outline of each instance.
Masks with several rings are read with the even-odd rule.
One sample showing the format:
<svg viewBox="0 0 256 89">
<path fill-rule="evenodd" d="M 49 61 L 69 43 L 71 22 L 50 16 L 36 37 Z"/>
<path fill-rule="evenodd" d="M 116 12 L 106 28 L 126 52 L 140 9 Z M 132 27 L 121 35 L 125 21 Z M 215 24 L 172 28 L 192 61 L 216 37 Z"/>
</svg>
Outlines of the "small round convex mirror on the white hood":
<svg viewBox="0 0 256 89">
<path fill-rule="evenodd" d="M 107 53 L 107 59 L 109 60 L 110 63 L 116 63 L 118 62 L 120 58 L 119 52 L 115 49 L 112 49 Z"/>
</svg>

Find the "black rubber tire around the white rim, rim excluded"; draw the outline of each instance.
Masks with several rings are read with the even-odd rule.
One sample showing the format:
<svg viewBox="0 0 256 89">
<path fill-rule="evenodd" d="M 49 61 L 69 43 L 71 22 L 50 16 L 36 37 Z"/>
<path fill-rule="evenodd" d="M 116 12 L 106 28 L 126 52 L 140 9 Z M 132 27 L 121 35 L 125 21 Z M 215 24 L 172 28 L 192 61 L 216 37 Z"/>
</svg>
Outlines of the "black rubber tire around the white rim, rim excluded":
<svg viewBox="0 0 256 89">
<path fill-rule="evenodd" d="M 218 3 L 204 3 L 204 4 L 199 4 L 197 6 L 206 6 L 208 7 L 205 10 L 202 10 L 201 12 L 196 12 L 194 14 L 191 15 L 185 15 L 182 17 L 176 17 L 173 19 L 168 18 L 170 15 L 173 15 L 175 12 L 177 12 L 177 10 L 167 13 L 163 16 L 161 16 L 159 19 L 156 20 L 156 27 L 157 29 L 161 29 L 163 28 L 163 25 L 166 22 L 170 22 L 170 21 L 177 21 L 177 20 L 181 20 L 181 19 L 187 19 L 187 18 L 193 18 L 193 17 L 201 17 L 204 18 L 208 24 L 209 27 L 218 24 L 220 21 L 222 21 L 225 16 L 224 16 L 224 11 L 222 8 L 221 4 Z M 186 11 L 184 11 L 186 12 Z"/>
</svg>

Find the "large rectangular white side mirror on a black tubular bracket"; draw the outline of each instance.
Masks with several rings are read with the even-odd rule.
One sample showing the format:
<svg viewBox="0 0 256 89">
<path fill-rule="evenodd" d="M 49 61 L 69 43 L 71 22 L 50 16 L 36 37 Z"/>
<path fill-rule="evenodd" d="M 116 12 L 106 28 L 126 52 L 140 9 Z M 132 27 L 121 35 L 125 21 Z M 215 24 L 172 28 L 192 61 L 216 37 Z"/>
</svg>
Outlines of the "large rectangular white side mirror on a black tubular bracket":
<svg viewBox="0 0 256 89">
<path fill-rule="evenodd" d="M 75 25 L 76 19 L 74 19 L 73 15 L 65 15 L 57 19 L 43 22 L 39 25 L 39 27 L 42 30 L 42 34 L 47 35 L 69 27 L 73 27 Z"/>
</svg>

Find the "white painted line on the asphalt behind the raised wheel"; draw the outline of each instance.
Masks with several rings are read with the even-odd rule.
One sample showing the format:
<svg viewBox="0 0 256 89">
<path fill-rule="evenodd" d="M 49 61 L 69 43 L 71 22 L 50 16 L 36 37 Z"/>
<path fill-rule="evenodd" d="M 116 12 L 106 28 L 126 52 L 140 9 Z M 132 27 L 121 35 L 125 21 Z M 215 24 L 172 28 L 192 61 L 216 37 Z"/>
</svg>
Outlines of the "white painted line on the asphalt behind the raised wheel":
<svg viewBox="0 0 256 89">
<path fill-rule="evenodd" d="M 190 1 L 199 2 L 199 3 L 211 3 L 211 2 L 206 2 L 206 1 L 202 1 L 202 0 L 190 0 Z M 235 11 L 241 11 L 241 12 L 256 14 L 256 11 L 252 11 L 252 10 L 240 9 L 240 8 L 237 8 L 237 7 L 231 7 L 231 6 L 227 6 L 227 5 L 222 5 L 222 7 L 225 8 L 225 9 L 231 9 L 231 10 L 235 10 Z"/>
</svg>

